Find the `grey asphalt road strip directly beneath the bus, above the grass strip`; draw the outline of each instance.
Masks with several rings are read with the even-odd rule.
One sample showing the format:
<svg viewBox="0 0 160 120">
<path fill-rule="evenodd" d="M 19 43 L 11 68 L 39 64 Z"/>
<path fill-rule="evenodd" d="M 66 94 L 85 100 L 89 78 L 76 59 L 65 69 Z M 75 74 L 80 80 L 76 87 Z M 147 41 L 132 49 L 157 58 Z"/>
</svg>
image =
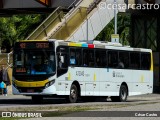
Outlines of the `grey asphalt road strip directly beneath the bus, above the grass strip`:
<svg viewBox="0 0 160 120">
<path fill-rule="evenodd" d="M 0 95 L 0 110 L 5 107 L 36 107 L 36 106 L 75 106 L 75 105 L 100 105 L 100 104 L 135 104 L 135 103 L 148 103 L 160 101 L 160 94 L 148 94 L 128 97 L 127 102 L 111 102 L 110 99 L 97 98 L 94 102 L 83 102 L 81 100 L 78 103 L 67 103 L 63 98 L 45 98 L 43 103 L 34 104 L 29 96 L 22 95 Z"/>
</svg>

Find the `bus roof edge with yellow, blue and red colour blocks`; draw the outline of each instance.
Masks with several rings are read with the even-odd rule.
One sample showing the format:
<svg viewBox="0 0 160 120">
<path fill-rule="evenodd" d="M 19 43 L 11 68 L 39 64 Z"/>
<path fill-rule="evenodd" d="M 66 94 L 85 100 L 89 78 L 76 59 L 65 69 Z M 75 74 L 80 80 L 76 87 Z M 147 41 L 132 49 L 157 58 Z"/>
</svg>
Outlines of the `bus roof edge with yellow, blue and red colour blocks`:
<svg viewBox="0 0 160 120">
<path fill-rule="evenodd" d="M 99 48 L 99 49 L 115 49 L 115 50 L 128 50 L 128 51 L 141 51 L 141 52 L 151 52 L 151 49 L 145 48 L 133 48 L 130 46 L 123 46 L 120 43 L 96 41 L 96 40 L 80 40 L 78 42 L 74 41 L 64 41 L 64 40 L 22 40 L 19 42 L 55 42 L 59 45 L 73 46 L 73 47 L 86 47 L 86 48 Z"/>
</svg>

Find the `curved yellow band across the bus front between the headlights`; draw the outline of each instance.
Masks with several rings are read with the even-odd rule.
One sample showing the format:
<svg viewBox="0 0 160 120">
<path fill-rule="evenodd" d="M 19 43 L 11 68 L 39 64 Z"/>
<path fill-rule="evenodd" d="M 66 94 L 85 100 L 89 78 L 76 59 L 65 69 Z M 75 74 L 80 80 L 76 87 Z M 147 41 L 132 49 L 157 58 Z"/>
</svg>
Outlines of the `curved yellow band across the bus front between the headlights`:
<svg viewBox="0 0 160 120">
<path fill-rule="evenodd" d="M 49 80 L 36 81 L 36 82 L 24 82 L 15 80 L 14 83 L 17 87 L 44 87 Z"/>
</svg>

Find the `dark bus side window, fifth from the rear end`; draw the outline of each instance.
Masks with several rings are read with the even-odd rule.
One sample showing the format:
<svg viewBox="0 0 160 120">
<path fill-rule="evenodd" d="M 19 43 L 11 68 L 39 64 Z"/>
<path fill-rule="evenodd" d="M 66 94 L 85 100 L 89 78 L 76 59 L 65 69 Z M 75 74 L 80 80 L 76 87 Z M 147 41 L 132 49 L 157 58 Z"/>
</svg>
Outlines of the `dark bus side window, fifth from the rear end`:
<svg viewBox="0 0 160 120">
<path fill-rule="evenodd" d="M 96 67 L 107 67 L 107 56 L 106 50 L 96 50 L 95 52 L 96 58 Z"/>
</svg>

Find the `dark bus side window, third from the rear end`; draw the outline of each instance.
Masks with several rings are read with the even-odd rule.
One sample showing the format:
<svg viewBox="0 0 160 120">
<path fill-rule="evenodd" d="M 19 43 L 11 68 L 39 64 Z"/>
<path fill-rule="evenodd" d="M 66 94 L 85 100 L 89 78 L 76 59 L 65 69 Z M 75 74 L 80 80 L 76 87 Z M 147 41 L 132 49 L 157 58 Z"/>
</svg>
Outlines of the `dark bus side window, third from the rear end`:
<svg viewBox="0 0 160 120">
<path fill-rule="evenodd" d="M 129 52 L 120 51 L 118 60 L 123 64 L 121 68 L 127 69 L 129 67 Z"/>
</svg>

